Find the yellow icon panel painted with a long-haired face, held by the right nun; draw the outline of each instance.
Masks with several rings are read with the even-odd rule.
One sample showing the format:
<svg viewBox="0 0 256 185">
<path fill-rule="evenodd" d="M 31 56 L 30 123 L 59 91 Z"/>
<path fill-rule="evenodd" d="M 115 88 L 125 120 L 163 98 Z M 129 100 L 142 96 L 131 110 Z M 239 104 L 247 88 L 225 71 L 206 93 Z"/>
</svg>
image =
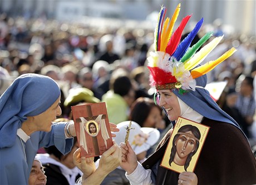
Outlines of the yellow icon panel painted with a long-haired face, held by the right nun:
<svg viewBox="0 0 256 185">
<path fill-rule="evenodd" d="M 161 166 L 178 173 L 194 172 L 209 128 L 179 117 L 166 147 Z"/>
</svg>

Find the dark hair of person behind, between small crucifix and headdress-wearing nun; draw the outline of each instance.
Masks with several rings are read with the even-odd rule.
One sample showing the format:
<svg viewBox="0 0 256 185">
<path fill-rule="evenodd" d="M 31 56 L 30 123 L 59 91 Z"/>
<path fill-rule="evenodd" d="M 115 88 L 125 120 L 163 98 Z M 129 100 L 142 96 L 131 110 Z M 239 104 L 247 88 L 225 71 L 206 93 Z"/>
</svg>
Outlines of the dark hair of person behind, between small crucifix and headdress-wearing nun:
<svg viewBox="0 0 256 185">
<path fill-rule="evenodd" d="M 140 127 L 144 127 L 143 123 L 146 121 L 153 107 L 159 108 L 160 112 L 162 111 L 159 106 L 156 106 L 152 99 L 145 97 L 137 98 L 131 105 L 129 120 L 138 123 Z"/>
</svg>

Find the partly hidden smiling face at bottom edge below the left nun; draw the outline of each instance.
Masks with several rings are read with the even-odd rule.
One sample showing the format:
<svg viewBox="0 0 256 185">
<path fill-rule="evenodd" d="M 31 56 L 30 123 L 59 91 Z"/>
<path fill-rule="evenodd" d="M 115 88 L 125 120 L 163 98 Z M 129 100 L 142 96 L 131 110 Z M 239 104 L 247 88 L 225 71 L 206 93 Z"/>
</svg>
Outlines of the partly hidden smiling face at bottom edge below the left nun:
<svg viewBox="0 0 256 185">
<path fill-rule="evenodd" d="M 45 184 L 46 184 L 46 176 L 45 176 L 45 171 L 43 171 L 42 164 L 41 162 L 34 160 L 31 168 L 31 172 L 28 178 L 28 185 L 45 185 Z"/>
</svg>

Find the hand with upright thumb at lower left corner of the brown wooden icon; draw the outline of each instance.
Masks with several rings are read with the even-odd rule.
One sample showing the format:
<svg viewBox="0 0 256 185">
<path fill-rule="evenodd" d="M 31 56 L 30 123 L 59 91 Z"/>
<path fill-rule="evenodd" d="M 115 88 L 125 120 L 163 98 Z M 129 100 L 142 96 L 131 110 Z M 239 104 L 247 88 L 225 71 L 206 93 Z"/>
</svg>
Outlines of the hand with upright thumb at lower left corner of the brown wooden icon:
<svg viewBox="0 0 256 185">
<path fill-rule="evenodd" d="M 81 148 L 78 148 L 73 154 L 73 163 L 83 172 L 83 176 L 88 177 L 95 172 L 94 157 L 81 157 Z"/>
</svg>

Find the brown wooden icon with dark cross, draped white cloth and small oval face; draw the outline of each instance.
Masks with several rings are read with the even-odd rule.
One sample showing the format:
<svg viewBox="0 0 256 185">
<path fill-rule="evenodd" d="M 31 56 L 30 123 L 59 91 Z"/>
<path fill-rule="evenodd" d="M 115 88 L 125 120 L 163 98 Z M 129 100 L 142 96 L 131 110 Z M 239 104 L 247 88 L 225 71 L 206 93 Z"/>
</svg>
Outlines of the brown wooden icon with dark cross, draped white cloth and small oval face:
<svg viewBox="0 0 256 185">
<path fill-rule="evenodd" d="M 113 145 L 106 104 L 89 103 L 71 109 L 81 156 L 101 156 Z"/>
</svg>

